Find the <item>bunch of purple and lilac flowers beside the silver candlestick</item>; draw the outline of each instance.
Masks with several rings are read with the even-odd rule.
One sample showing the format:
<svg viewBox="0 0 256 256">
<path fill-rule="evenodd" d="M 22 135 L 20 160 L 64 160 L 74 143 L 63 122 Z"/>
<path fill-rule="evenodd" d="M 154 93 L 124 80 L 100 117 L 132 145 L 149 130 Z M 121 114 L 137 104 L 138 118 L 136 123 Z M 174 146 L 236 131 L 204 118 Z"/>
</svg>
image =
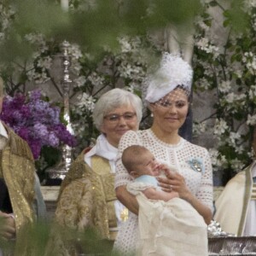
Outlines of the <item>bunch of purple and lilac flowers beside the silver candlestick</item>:
<svg viewBox="0 0 256 256">
<path fill-rule="evenodd" d="M 38 160 L 44 146 L 57 148 L 64 143 L 73 147 L 76 143 L 61 123 L 60 108 L 45 102 L 40 90 L 33 90 L 27 96 L 6 96 L 0 119 L 26 140 L 35 160 Z"/>
</svg>

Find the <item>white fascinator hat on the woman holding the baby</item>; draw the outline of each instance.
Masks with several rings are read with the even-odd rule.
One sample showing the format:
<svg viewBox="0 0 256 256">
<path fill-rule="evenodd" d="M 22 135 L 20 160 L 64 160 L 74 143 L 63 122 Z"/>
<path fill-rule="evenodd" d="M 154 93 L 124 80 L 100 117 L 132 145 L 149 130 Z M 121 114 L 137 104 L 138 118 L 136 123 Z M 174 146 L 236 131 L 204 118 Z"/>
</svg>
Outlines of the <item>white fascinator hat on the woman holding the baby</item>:
<svg viewBox="0 0 256 256">
<path fill-rule="evenodd" d="M 192 78 L 193 70 L 187 61 L 183 61 L 180 55 L 165 52 L 159 69 L 145 80 L 148 85 L 145 100 L 157 102 L 177 86 L 182 87 L 189 95 Z"/>
</svg>

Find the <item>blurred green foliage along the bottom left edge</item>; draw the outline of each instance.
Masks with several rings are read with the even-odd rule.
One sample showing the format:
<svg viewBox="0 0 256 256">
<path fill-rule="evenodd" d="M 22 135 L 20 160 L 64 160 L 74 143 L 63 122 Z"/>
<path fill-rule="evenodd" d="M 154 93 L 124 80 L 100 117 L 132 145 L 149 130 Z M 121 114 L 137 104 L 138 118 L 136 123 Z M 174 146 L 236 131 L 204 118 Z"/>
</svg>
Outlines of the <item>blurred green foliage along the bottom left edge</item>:
<svg viewBox="0 0 256 256">
<path fill-rule="evenodd" d="M 2 219 L 0 224 L 3 224 Z M 0 240 L 0 245 L 5 252 L 24 252 L 26 248 L 26 254 L 22 255 L 27 256 L 62 255 L 64 250 L 74 247 L 81 255 L 120 255 L 118 252 L 111 253 L 113 241 L 102 239 L 94 229 L 78 231 L 46 220 L 26 224 L 20 230 L 18 240 Z"/>
</svg>

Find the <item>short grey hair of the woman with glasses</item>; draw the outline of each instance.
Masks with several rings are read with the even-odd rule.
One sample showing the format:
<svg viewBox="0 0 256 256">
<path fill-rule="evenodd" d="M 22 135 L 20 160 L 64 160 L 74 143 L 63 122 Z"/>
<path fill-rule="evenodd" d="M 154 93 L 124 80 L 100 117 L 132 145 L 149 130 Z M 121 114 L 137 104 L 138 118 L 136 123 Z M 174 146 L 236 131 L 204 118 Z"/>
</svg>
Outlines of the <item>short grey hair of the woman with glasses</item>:
<svg viewBox="0 0 256 256">
<path fill-rule="evenodd" d="M 115 108 L 129 105 L 136 111 L 137 123 L 139 125 L 143 118 L 143 102 L 141 98 L 124 89 L 115 88 L 108 90 L 98 99 L 93 110 L 92 117 L 96 128 L 101 131 L 104 116 Z"/>
</svg>

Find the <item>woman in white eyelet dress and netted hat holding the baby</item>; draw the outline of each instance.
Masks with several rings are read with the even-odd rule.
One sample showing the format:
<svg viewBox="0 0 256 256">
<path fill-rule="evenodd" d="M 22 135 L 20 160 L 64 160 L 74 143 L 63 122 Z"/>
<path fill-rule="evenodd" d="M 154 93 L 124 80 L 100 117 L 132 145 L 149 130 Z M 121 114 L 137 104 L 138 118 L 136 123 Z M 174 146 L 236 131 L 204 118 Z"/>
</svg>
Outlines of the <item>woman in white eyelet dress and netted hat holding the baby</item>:
<svg viewBox="0 0 256 256">
<path fill-rule="evenodd" d="M 176 172 L 166 169 L 164 170 L 166 177 L 158 178 L 162 189 L 166 192 L 177 192 L 180 198 L 188 201 L 201 214 L 206 224 L 211 222 L 213 207 L 210 156 L 206 148 L 189 143 L 178 134 L 189 111 L 192 73 L 191 67 L 182 58 L 165 53 L 159 69 L 146 79 L 148 90 L 145 99 L 153 115 L 153 125 L 145 131 L 128 131 L 119 142 L 115 188 L 119 201 L 133 212 L 129 212 L 129 218 L 114 242 L 114 249 L 119 250 L 122 255 L 134 253 L 136 247 L 141 246 L 137 245 L 137 241 L 142 241 L 137 235 L 139 224 L 142 223 L 138 223 L 137 214 L 140 215 L 138 203 L 135 197 L 126 190 L 131 177 L 121 162 L 122 152 L 132 144 L 148 148 L 157 160 L 172 166 Z M 153 221 L 154 217 L 152 217 Z M 160 232 L 159 236 L 162 235 Z M 140 238 L 143 238 L 144 243 L 148 242 L 148 248 L 150 247 L 150 251 L 153 252 L 152 255 L 158 255 L 157 241 L 148 241 L 148 237 Z M 170 236 L 166 239 L 171 241 L 175 237 Z M 193 237 L 184 237 L 184 244 L 188 239 L 193 241 Z M 187 248 L 196 250 L 193 243 L 189 244 L 189 241 Z M 202 242 L 205 241 L 207 237 L 202 239 Z M 161 255 L 191 255 L 188 251 L 180 254 L 175 248 L 172 249 L 173 253 L 169 251 Z"/>
</svg>

